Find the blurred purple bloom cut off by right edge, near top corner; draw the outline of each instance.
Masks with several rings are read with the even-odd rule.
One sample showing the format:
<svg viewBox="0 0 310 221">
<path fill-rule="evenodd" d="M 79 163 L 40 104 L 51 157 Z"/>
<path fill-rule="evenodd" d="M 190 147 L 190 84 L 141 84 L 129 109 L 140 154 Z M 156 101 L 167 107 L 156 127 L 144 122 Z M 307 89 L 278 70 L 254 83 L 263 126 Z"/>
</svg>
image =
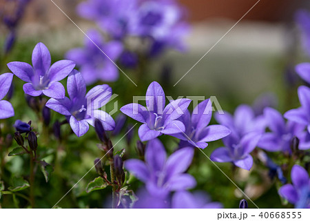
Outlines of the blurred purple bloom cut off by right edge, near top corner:
<svg viewBox="0 0 310 221">
<path fill-rule="evenodd" d="M 302 31 L 302 44 L 304 51 L 310 55 L 310 13 L 300 10 L 296 14 L 296 21 Z"/>
</svg>

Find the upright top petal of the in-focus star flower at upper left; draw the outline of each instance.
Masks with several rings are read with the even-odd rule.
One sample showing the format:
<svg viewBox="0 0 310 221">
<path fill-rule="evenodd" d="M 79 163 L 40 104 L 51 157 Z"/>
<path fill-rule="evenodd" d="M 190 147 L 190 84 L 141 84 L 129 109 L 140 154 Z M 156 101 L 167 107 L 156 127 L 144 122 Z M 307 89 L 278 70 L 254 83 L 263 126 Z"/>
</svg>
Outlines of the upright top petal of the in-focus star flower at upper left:
<svg viewBox="0 0 310 221">
<path fill-rule="evenodd" d="M 50 68 L 50 51 L 43 43 L 38 43 L 32 52 L 32 66 L 40 75 L 45 75 Z"/>
</svg>

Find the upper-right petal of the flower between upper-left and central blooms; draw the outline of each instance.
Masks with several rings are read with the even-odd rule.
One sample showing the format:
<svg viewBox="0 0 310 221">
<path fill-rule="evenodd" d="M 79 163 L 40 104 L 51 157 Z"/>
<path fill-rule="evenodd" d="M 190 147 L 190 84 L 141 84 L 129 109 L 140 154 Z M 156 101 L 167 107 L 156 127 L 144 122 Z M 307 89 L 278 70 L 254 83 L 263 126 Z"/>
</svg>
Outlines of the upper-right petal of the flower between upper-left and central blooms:
<svg viewBox="0 0 310 221">
<path fill-rule="evenodd" d="M 87 108 L 91 106 L 92 110 L 101 108 L 109 102 L 112 96 L 112 88 L 107 84 L 97 85 L 88 91 L 86 95 Z"/>
</svg>

